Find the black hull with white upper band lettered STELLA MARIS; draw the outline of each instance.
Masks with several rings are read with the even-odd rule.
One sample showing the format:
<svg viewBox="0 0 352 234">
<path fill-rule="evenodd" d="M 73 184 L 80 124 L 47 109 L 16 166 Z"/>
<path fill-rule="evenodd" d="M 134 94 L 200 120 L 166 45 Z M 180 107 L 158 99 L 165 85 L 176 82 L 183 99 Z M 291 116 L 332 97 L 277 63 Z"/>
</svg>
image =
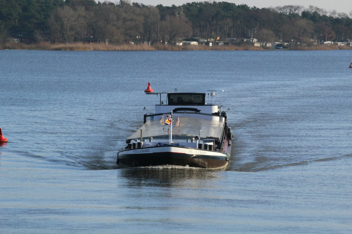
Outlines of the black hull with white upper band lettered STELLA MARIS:
<svg viewBox="0 0 352 234">
<path fill-rule="evenodd" d="M 118 153 L 119 168 L 159 165 L 189 166 L 225 170 L 230 162 L 226 153 L 178 146 L 127 149 Z"/>
</svg>

